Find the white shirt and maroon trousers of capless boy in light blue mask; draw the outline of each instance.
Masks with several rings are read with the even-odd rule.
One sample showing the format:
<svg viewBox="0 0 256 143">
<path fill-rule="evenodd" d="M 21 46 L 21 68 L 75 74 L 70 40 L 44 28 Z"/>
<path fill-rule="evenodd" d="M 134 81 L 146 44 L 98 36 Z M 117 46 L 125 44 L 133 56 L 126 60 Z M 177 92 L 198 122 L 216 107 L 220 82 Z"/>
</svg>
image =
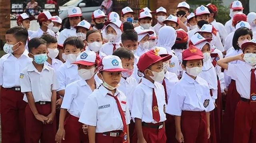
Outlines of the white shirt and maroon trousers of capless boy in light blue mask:
<svg viewBox="0 0 256 143">
<path fill-rule="evenodd" d="M 54 70 L 46 64 L 41 72 L 39 72 L 32 62 L 20 73 L 20 87 L 23 93 L 32 92 L 36 109 L 40 115 L 48 116 L 52 112 L 51 97 L 52 90 L 59 88 Z M 28 102 L 26 95 L 24 101 Z M 37 143 L 55 143 L 56 119 L 52 124 L 43 124 L 42 121 L 36 119 L 30 109 L 30 105 L 26 105 L 26 142 Z"/>
</svg>

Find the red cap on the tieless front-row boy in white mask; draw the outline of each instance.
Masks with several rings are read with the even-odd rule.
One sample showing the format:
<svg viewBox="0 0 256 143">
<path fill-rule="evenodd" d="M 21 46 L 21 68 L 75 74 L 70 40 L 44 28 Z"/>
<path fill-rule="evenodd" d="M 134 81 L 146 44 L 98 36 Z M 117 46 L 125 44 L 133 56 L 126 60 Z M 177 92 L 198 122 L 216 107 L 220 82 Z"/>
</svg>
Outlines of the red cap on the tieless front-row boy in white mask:
<svg viewBox="0 0 256 143">
<path fill-rule="evenodd" d="M 198 60 L 204 59 L 204 55 L 201 50 L 195 46 L 190 46 L 188 49 L 182 52 L 182 60 Z"/>
</svg>

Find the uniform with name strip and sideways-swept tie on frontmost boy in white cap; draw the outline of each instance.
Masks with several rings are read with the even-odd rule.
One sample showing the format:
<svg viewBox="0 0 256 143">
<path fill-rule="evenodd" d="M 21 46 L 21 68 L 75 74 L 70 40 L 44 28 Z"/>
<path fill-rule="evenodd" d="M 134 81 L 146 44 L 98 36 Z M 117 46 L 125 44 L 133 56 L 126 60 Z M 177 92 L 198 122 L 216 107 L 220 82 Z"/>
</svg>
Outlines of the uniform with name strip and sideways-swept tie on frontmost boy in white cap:
<svg viewBox="0 0 256 143">
<path fill-rule="evenodd" d="M 130 124 L 127 97 L 118 89 L 112 96 L 106 87 L 100 86 L 86 99 L 80 115 L 79 122 L 96 126 L 96 143 L 121 143 L 127 139 L 123 131 Z"/>
</svg>

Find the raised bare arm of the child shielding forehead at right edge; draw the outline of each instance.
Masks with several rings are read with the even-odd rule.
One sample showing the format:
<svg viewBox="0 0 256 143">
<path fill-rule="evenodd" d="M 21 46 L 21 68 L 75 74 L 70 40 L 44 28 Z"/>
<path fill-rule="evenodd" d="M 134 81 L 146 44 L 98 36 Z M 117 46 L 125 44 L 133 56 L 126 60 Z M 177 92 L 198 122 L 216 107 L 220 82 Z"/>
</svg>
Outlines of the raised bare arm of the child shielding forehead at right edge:
<svg viewBox="0 0 256 143">
<path fill-rule="evenodd" d="M 244 54 L 239 54 L 236 56 L 220 59 L 217 61 L 217 64 L 225 70 L 228 70 L 228 63 L 236 60 L 244 61 Z"/>
</svg>

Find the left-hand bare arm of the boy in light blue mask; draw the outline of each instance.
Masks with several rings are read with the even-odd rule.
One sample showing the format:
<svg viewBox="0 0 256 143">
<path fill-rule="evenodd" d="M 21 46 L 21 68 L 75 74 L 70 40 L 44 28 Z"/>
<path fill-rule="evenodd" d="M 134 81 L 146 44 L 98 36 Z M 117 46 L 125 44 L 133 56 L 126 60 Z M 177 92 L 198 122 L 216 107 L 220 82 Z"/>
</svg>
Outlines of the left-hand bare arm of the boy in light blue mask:
<svg viewBox="0 0 256 143">
<path fill-rule="evenodd" d="M 36 119 L 41 121 L 43 124 L 46 124 L 46 122 L 48 121 L 48 118 L 45 117 L 44 115 L 40 115 L 38 113 L 38 111 L 36 109 L 36 103 L 35 103 L 34 97 L 32 95 L 32 92 L 26 92 L 26 97 L 28 99 L 28 105 L 29 105 L 32 113 L 36 117 Z"/>
</svg>

